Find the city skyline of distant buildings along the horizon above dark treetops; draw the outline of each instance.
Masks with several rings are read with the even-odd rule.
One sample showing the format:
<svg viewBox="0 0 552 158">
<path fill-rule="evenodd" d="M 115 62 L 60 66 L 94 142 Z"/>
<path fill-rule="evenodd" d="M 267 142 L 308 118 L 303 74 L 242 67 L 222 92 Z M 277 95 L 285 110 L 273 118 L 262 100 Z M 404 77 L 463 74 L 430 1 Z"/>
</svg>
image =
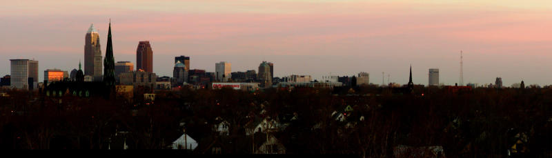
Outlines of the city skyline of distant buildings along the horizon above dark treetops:
<svg viewBox="0 0 552 158">
<path fill-rule="evenodd" d="M 44 70 L 44 79 L 41 82 L 38 81 L 38 61 L 34 59 L 10 59 L 10 75 L 1 78 L 0 86 L 22 90 L 37 90 L 39 85 L 49 86 L 50 83 L 61 81 L 83 81 L 104 82 L 106 85 L 111 86 L 144 86 L 150 90 L 170 90 L 172 88 L 181 88 L 182 86 L 213 88 L 213 83 L 258 83 L 259 88 L 297 86 L 333 88 L 336 86 L 368 86 L 372 84 L 370 83 L 370 74 L 368 72 L 359 72 L 357 75 L 352 76 L 324 76 L 319 81 L 311 75 L 275 77 L 274 63 L 268 61 L 259 63 L 257 70 L 235 72 L 232 71 L 232 64 L 230 62 L 220 61 L 215 63 L 214 72 L 207 72 L 206 70 L 191 68 L 190 57 L 184 55 L 175 57 L 175 63 L 172 67 L 172 77 L 157 77 L 155 72 L 153 72 L 152 43 L 150 41 L 138 42 L 136 63 L 131 63 L 130 61 L 117 61 L 115 63 L 110 29 L 111 26 L 109 26 L 108 31 L 106 54 L 102 56 L 97 28 L 93 24 L 88 28 L 85 34 L 83 70 L 80 68 L 80 62 L 79 70 L 75 68 L 70 73 L 66 70 L 47 69 Z M 80 71 L 83 73 L 79 76 Z M 438 68 L 428 69 L 427 86 L 444 86 L 443 83 L 440 83 L 439 73 Z M 462 70 L 460 75 L 460 86 L 462 86 Z M 382 87 L 414 87 L 412 72 L 406 85 L 401 86 L 399 83 L 391 83 L 390 81 L 388 81 L 388 84 L 384 83 L 385 81 L 383 80 Z M 456 86 L 458 85 L 456 84 Z M 480 87 L 476 83 L 468 83 L 467 86 L 472 88 Z M 484 84 L 482 86 L 503 88 L 502 78 L 497 77 L 494 84 Z M 525 86 L 522 81 L 522 83 L 514 83 L 511 87 L 524 88 Z M 133 90 L 137 90 L 137 88 L 133 88 Z"/>
</svg>

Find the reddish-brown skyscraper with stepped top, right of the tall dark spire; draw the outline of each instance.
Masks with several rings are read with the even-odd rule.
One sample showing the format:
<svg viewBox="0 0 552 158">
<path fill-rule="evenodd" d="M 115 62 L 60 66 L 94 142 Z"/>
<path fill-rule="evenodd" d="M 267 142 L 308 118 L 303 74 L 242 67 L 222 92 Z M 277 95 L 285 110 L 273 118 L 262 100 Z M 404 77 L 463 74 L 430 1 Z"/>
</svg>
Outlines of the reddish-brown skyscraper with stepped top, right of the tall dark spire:
<svg viewBox="0 0 552 158">
<path fill-rule="evenodd" d="M 153 51 L 150 41 L 139 41 L 136 48 L 136 69 L 153 72 Z"/>
</svg>

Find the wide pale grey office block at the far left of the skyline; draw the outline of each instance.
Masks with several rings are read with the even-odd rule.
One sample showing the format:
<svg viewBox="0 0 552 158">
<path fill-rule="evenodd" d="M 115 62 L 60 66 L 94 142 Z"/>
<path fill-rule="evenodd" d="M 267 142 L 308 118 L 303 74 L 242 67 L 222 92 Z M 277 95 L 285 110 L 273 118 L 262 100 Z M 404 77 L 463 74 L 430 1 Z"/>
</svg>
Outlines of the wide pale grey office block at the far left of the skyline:
<svg viewBox="0 0 552 158">
<path fill-rule="evenodd" d="M 39 78 L 39 61 L 10 59 L 10 62 L 10 86 L 22 90 L 32 90 L 36 88 Z"/>
</svg>

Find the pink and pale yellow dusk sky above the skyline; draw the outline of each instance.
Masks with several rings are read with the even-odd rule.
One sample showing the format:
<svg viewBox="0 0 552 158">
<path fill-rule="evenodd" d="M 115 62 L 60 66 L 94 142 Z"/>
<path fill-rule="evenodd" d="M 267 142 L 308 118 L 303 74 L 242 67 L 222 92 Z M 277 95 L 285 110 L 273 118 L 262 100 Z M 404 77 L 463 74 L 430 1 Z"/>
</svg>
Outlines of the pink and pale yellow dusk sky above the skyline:
<svg viewBox="0 0 552 158">
<path fill-rule="evenodd" d="M 153 70 L 172 76 L 174 57 L 191 69 L 232 71 L 274 63 L 275 77 L 370 73 L 370 82 L 504 86 L 552 84 L 552 1 L 487 0 L 194 0 L 7 1 L 0 0 L 0 75 L 9 59 L 39 61 L 43 70 L 78 69 L 86 31 L 99 29 L 105 56 L 112 22 L 115 61 L 136 63 L 139 41 L 150 41 Z M 135 64 L 136 65 L 136 64 Z M 382 79 L 384 72 L 384 79 Z M 389 75 L 389 76 L 388 76 Z"/>
</svg>

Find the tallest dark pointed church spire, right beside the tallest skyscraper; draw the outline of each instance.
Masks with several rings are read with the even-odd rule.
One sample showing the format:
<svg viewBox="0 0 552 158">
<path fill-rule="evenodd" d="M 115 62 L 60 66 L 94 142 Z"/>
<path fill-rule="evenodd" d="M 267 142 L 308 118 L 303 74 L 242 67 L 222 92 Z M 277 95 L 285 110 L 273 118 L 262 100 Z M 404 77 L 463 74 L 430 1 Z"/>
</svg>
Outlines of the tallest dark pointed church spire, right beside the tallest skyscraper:
<svg viewBox="0 0 552 158">
<path fill-rule="evenodd" d="M 103 82 L 106 83 L 106 86 L 115 86 L 115 59 L 113 58 L 113 45 L 111 43 L 111 19 L 109 19 L 106 58 L 103 59 Z"/>
</svg>

